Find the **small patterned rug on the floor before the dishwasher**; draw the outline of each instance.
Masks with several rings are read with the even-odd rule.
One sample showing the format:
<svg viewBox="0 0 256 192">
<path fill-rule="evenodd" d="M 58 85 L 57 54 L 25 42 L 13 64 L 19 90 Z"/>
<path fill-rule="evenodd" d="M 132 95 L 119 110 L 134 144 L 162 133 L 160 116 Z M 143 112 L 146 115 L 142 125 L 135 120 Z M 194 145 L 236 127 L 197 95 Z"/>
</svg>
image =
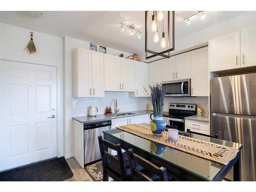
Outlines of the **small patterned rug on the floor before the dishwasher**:
<svg viewBox="0 0 256 192">
<path fill-rule="evenodd" d="M 102 181 L 102 162 L 93 163 L 84 167 L 88 175 L 92 178 L 93 181 Z"/>
</svg>

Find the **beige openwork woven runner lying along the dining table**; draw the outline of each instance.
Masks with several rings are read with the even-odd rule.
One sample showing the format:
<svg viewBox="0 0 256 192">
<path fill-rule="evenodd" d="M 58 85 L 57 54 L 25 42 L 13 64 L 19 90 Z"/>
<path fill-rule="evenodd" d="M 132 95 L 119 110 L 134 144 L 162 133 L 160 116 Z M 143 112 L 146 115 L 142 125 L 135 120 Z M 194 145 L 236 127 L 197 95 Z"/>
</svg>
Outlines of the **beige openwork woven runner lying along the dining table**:
<svg viewBox="0 0 256 192">
<path fill-rule="evenodd" d="M 168 132 L 164 132 L 161 136 L 154 135 L 150 127 L 130 124 L 117 127 L 125 132 L 132 133 L 139 137 L 176 148 L 177 150 L 193 154 L 204 159 L 208 159 L 219 164 L 226 165 L 230 160 L 236 157 L 239 150 L 233 147 L 223 146 L 216 143 L 202 141 L 186 136 L 179 135 L 178 141 L 170 141 L 168 139 Z"/>
</svg>

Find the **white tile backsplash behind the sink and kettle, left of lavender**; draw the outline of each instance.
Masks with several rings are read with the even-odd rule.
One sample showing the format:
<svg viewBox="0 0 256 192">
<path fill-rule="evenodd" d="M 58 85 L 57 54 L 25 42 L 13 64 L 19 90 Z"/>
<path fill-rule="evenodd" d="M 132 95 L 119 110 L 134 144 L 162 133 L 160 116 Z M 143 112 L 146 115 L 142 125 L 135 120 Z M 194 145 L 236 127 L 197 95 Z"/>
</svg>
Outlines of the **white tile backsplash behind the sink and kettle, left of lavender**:
<svg viewBox="0 0 256 192">
<path fill-rule="evenodd" d="M 129 97 L 128 92 L 105 92 L 104 98 L 72 98 L 73 117 L 88 115 L 89 106 L 96 106 L 98 114 L 103 114 L 106 105 L 111 105 L 114 112 L 114 101 L 117 99 L 120 112 L 148 109 L 147 97 Z"/>
</svg>

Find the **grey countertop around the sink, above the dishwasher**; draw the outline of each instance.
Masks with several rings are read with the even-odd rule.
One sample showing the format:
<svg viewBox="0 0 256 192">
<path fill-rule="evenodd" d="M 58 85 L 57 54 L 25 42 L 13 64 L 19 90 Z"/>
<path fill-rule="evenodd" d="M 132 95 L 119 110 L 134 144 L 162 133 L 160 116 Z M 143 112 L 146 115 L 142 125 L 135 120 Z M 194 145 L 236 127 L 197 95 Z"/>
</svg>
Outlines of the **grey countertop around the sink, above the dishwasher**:
<svg viewBox="0 0 256 192">
<path fill-rule="evenodd" d="M 125 115 L 125 116 L 117 116 L 112 117 L 111 115 L 104 115 L 100 114 L 96 117 L 89 117 L 89 116 L 80 116 L 80 117 L 73 117 L 76 121 L 80 123 L 92 123 L 97 121 L 104 121 L 104 120 L 111 120 L 111 119 L 117 119 L 117 118 L 123 118 L 123 117 L 132 117 L 137 115 L 146 115 L 146 114 L 152 114 L 153 111 L 151 110 L 141 110 L 141 111 L 129 111 L 129 112 L 122 112 L 122 113 L 134 113 L 133 115 Z"/>
</svg>

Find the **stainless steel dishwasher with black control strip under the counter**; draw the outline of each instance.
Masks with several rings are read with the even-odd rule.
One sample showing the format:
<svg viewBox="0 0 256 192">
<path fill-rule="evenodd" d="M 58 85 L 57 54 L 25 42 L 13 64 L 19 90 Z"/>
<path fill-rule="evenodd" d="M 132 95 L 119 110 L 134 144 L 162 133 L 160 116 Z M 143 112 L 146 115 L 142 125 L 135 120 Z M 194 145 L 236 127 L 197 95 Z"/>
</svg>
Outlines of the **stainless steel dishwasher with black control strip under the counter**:
<svg viewBox="0 0 256 192">
<path fill-rule="evenodd" d="M 103 136 L 102 131 L 111 129 L 111 120 L 84 123 L 84 164 L 101 159 L 98 136 Z"/>
</svg>

